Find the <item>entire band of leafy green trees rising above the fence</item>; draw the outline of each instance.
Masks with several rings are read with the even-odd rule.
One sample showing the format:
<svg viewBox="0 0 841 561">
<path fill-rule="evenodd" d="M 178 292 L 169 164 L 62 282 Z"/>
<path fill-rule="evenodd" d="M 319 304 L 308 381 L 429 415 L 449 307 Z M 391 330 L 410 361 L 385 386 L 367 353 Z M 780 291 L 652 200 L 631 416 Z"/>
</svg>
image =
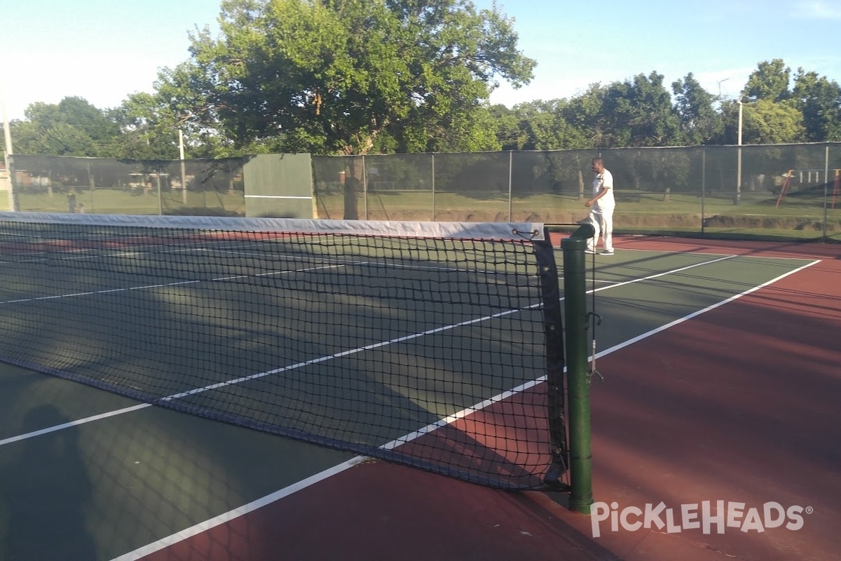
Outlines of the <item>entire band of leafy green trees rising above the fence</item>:
<svg viewBox="0 0 841 561">
<path fill-rule="evenodd" d="M 692 73 L 670 91 L 652 71 L 569 99 L 490 106 L 496 81 L 526 83 L 534 61 L 516 51 L 512 22 L 466 2 L 231 0 L 223 8 L 225 33 L 197 32 L 191 59 L 161 71 L 155 93 L 133 93 L 108 111 L 81 98 L 33 103 L 11 124 L 16 151 L 176 159 L 179 130 L 188 158 L 738 141 L 737 101 L 707 92 Z M 751 74 L 740 96 L 743 143 L 841 141 L 838 83 L 798 68 L 790 88 L 789 77 L 778 59 Z"/>
</svg>

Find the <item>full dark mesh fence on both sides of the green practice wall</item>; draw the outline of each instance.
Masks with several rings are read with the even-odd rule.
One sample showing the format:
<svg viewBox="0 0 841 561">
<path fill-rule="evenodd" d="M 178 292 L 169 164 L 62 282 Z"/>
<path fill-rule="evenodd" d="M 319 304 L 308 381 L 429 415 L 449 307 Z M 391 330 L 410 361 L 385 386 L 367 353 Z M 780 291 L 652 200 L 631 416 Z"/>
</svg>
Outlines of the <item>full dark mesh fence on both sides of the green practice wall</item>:
<svg viewBox="0 0 841 561">
<path fill-rule="evenodd" d="M 584 220 L 590 162 L 613 173 L 617 233 L 841 241 L 841 143 L 312 156 L 325 219 Z M 245 215 L 247 157 L 14 156 L 16 208 Z M 279 180 L 278 180 L 279 183 Z"/>
</svg>

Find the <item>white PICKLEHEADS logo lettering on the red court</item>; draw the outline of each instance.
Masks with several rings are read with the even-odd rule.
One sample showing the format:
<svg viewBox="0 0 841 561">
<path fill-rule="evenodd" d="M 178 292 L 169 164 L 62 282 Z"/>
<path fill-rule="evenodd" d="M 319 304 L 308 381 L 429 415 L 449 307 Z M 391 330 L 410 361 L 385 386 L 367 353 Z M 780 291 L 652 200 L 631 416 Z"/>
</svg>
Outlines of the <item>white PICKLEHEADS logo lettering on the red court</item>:
<svg viewBox="0 0 841 561">
<path fill-rule="evenodd" d="M 641 528 L 678 533 L 684 530 L 701 530 L 705 534 L 713 531 L 723 534 L 726 528 L 736 528 L 741 532 L 764 532 L 767 528 L 785 527 L 788 530 L 800 530 L 803 527 L 804 514 L 812 514 L 811 506 L 792 505 L 785 508 L 778 502 L 767 502 L 761 507 L 746 508 L 745 503 L 704 500 L 701 504 L 680 505 L 679 509 L 659 505 L 626 506 L 619 509 L 619 504 L 595 502 L 590 505 L 590 521 L 593 537 L 601 536 L 601 522 L 610 520 L 611 532 L 619 532 L 619 527 L 628 532 Z"/>
</svg>

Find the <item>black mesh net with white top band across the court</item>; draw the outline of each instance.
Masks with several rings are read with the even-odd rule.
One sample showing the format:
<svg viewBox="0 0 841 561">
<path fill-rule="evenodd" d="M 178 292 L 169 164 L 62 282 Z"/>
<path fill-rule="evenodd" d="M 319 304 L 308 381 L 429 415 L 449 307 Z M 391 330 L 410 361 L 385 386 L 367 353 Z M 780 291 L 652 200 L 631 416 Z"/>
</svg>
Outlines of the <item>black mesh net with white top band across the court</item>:
<svg viewBox="0 0 841 561">
<path fill-rule="evenodd" d="M 0 214 L 0 360 L 535 488 L 565 463 L 547 237 L 538 224 Z"/>
</svg>

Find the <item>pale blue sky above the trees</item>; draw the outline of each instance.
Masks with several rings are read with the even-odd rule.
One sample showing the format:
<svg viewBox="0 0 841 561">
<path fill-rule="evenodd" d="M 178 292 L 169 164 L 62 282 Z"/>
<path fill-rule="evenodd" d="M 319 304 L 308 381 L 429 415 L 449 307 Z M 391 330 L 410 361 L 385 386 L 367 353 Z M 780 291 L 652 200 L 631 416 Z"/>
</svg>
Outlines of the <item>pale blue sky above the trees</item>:
<svg viewBox="0 0 841 561">
<path fill-rule="evenodd" d="M 492 0 L 474 0 L 489 8 Z M 760 61 L 781 58 L 841 82 L 841 0 L 498 0 L 537 61 L 531 84 L 505 84 L 493 103 L 569 98 L 651 71 L 667 86 L 692 72 L 736 96 Z M 188 31 L 217 29 L 219 0 L 0 0 L 9 119 L 67 96 L 98 108 L 151 92 L 161 67 L 188 59 Z M 833 45 L 834 43 L 834 45 Z"/>
</svg>

